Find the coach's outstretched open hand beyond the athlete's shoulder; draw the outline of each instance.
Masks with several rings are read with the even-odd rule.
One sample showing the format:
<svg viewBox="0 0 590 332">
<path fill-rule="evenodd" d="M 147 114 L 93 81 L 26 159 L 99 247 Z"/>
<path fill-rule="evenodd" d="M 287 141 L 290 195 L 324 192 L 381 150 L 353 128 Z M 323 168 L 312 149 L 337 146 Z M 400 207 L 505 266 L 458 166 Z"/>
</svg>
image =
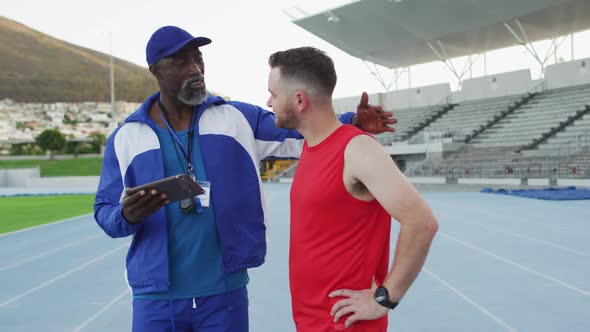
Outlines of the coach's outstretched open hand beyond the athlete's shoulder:
<svg viewBox="0 0 590 332">
<path fill-rule="evenodd" d="M 369 105 L 369 95 L 366 92 L 361 95 L 361 102 L 356 108 L 356 119 L 357 127 L 371 134 L 394 132 L 395 129 L 389 125 L 397 123 L 393 113 L 384 112 L 381 105 Z"/>
</svg>

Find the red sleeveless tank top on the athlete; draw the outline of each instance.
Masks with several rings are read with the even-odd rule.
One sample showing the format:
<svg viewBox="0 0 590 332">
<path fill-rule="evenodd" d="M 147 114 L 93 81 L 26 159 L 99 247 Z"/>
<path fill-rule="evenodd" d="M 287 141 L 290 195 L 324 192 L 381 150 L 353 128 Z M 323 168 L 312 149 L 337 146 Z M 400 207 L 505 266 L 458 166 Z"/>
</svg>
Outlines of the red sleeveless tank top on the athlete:
<svg viewBox="0 0 590 332">
<path fill-rule="evenodd" d="M 391 216 L 377 202 L 351 196 L 343 182 L 344 150 L 364 135 L 350 125 L 338 127 L 316 146 L 304 144 L 291 187 L 289 281 L 297 331 L 340 331 L 330 310 L 342 298 L 336 289 L 380 284 L 389 266 Z M 358 321 L 347 331 L 385 331 L 387 316 Z"/>
</svg>

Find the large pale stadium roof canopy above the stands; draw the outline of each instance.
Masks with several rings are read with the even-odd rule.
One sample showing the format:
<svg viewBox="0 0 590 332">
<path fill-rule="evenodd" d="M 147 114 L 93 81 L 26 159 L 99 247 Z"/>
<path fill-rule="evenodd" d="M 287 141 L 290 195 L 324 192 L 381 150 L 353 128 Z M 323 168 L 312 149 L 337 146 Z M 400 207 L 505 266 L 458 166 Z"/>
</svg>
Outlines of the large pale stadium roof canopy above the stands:
<svg viewBox="0 0 590 332">
<path fill-rule="evenodd" d="M 388 68 L 590 29 L 589 0 L 363 0 L 295 24 Z"/>
</svg>

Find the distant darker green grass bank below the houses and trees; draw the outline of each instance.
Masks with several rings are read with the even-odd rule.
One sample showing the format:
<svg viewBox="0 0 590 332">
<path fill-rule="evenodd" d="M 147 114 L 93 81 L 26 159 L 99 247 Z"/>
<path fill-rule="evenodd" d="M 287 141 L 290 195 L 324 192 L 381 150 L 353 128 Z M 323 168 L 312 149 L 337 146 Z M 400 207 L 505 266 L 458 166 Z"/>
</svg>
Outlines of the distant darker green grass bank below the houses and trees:
<svg viewBox="0 0 590 332">
<path fill-rule="evenodd" d="M 100 175 L 102 158 L 0 160 L 0 168 L 41 167 L 41 176 Z"/>
</svg>

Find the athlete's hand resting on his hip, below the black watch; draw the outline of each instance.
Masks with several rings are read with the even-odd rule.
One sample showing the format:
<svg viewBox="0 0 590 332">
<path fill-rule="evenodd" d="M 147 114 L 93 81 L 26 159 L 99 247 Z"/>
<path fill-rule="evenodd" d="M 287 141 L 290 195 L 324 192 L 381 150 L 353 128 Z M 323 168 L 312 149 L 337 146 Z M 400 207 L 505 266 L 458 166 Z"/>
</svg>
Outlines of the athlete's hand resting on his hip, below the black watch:
<svg viewBox="0 0 590 332">
<path fill-rule="evenodd" d="M 376 289 L 377 284 L 373 280 L 370 289 L 338 289 L 328 294 L 330 298 L 345 297 L 336 302 L 330 311 L 330 314 L 334 316 L 334 323 L 337 323 L 342 316 L 352 314 L 344 322 L 344 326 L 348 328 L 358 320 L 375 320 L 387 315 L 389 309 L 375 301 Z"/>
</svg>

